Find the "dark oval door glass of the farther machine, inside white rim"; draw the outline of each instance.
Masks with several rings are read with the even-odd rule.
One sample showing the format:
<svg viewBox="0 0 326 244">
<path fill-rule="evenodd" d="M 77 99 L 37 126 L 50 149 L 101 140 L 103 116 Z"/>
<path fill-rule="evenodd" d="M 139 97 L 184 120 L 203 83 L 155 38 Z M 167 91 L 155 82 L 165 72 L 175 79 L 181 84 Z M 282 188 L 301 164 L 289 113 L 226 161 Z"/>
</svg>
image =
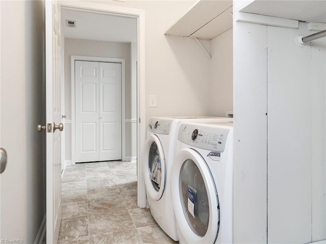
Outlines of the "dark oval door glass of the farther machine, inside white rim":
<svg viewBox="0 0 326 244">
<path fill-rule="evenodd" d="M 158 192 L 162 181 L 162 165 L 158 147 L 153 142 L 149 148 L 148 169 L 153 188 Z"/>
</svg>

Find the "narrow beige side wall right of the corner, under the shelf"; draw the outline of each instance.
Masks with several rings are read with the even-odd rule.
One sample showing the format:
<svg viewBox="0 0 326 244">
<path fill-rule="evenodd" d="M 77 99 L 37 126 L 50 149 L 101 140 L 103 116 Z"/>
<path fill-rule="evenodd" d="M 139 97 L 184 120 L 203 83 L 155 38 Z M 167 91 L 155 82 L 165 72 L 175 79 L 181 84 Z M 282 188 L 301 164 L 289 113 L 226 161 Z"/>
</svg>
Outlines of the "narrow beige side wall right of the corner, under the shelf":
<svg viewBox="0 0 326 244">
<path fill-rule="evenodd" d="M 233 30 L 211 41 L 209 62 L 209 115 L 225 116 L 233 110 Z"/>
</svg>

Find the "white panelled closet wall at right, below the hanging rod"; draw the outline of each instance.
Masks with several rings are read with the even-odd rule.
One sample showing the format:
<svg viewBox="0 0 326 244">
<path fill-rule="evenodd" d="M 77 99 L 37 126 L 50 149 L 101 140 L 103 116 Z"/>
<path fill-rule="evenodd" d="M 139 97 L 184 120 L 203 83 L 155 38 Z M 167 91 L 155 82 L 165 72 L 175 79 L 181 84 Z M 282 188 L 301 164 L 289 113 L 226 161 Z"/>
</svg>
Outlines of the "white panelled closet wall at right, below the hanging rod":
<svg viewBox="0 0 326 244">
<path fill-rule="evenodd" d="M 298 47 L 306 23 L 233 28 L 234 241 L 326 239 L 326 39 Z"/>
</svg>

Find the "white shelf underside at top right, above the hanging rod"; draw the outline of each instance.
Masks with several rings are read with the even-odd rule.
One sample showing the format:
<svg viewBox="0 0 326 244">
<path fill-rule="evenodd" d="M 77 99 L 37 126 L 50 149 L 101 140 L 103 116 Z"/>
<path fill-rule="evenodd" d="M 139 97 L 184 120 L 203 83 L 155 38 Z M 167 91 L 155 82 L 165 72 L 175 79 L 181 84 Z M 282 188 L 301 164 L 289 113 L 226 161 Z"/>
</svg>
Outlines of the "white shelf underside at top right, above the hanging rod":
<svg viewBox="0 0 326 244">
<path fill-rule="evenodd" d="M 256 0 L 241 12 L 326 23 L 325 0 Z"/>
</svg>

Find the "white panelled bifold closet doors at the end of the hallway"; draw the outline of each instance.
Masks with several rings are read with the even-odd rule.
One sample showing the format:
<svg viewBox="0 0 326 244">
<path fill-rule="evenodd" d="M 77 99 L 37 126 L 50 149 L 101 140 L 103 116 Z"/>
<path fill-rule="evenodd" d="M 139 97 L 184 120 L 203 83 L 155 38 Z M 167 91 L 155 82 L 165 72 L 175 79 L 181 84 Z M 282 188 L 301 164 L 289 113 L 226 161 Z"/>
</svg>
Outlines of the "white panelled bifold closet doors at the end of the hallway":
<svg viewBox="0 0 326 244">
<path fill-rule="evenodd" d="M 75 61 L 76 162 L 121 159 L 121 64 Z"/>
</svg>

